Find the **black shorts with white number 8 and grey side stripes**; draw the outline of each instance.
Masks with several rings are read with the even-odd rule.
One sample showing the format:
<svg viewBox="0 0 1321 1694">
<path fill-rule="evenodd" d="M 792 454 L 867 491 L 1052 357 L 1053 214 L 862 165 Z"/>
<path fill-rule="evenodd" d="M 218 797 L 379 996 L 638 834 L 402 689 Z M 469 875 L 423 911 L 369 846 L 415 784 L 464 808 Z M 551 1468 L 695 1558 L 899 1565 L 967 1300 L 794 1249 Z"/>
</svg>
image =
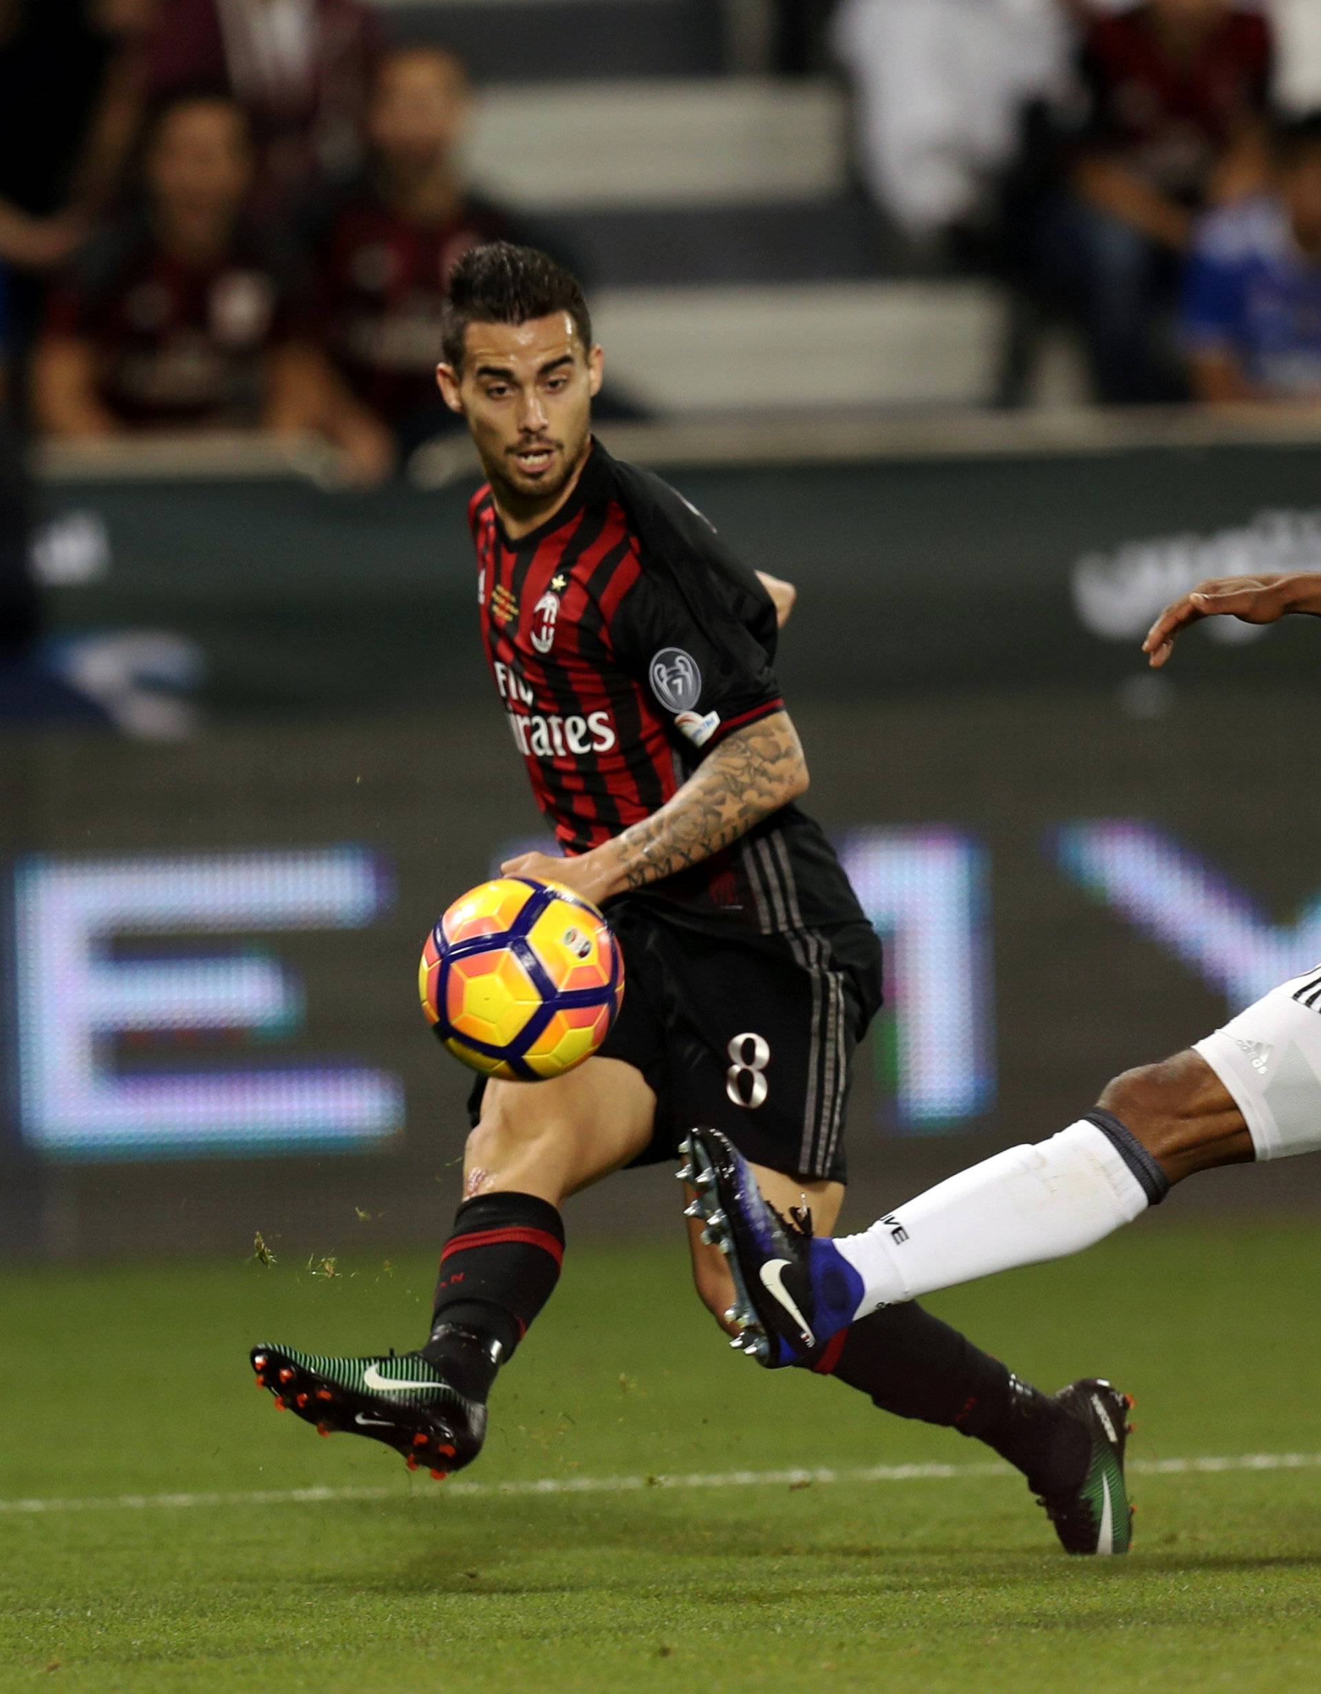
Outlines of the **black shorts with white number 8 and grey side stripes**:
<svg viewBox="0 0 1321 1694">
<path fill-rule="evenodd" d="M 623 1006 L 601 1045 L 652 1088 L 655 1125 L 633 1164 L 677 1157 L 694 1125 L 754 1164 L 845 1179 L 854 1052 L 881 1005 L 881 944 L 865 923 L 793 935 L 694 927 L 652 901 L 610 908 Z M 481 1106 L 483 1084 L 471 1110 Z"/>
</svg>

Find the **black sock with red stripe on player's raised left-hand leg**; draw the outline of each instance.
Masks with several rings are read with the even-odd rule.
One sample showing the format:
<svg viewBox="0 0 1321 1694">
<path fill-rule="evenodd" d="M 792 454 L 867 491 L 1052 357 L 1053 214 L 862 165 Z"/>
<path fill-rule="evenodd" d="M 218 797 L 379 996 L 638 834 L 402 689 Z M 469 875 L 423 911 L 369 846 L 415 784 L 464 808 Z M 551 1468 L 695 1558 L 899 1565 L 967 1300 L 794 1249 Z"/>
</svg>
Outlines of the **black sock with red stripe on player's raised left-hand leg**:
<svg viewBox="0 0 1321 1694">
<path fill-rule="evenodd" d="M 550 1299 L 564 1260 L 564 1223 L 535 1194 L 478 1194 L 454 1215 L 440 1252 L 432 1335 L 422 1357 L 469 1399 L 495 1374 Z"/>
</svg>

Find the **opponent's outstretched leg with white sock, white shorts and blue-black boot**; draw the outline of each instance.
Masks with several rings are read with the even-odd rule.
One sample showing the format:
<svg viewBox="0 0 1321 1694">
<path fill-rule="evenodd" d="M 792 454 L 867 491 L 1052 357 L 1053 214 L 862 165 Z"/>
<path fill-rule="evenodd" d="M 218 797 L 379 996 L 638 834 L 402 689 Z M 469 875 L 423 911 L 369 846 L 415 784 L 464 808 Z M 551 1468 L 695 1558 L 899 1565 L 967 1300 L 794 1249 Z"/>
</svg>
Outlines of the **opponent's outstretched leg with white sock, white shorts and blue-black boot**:
<svg viewBox="0 0 1321 1694">
<path fill-rule="evenodd" d="M 808 1337 L 833 1343 L 918 1294 L 1091 1247 L 1196 1171 L 1319 1150 L 1321 969 L 1196 1049 L 1116 1077 L 1048 1142 L 998 1154 L 860 1235 L 815 1240 L 776 1216 L 715 1132 L 698 1142 L 694 1179 L 740 1272 L 735 1316 L 804 1352 Z"/>
</svg>

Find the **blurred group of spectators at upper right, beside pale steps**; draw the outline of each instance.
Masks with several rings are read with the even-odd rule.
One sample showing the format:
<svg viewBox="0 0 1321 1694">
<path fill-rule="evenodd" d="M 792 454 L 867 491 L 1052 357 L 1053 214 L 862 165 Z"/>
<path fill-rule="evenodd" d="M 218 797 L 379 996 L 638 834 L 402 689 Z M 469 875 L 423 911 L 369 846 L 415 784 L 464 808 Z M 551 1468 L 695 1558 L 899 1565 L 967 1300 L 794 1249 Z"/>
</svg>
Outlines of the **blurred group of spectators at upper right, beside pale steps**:
<svg viewBox="0 0 1321 1694">
<path fill-rule="evenodd" d="M 1096 400 L 1321 398 L 1321 8 L 843 0 L 832 39 L 877 202 L 981 249 L 1013 335 L 1070 322 Z"/>
</svg>

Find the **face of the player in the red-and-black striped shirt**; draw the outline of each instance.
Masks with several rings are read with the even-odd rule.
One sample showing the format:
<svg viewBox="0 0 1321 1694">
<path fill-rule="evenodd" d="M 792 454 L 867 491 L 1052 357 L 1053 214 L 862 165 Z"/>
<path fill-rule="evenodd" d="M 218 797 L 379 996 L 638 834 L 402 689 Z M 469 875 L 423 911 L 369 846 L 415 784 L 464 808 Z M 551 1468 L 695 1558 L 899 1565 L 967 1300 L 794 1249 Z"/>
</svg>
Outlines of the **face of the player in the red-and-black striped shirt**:
<svg viewBox="0 0 1321 1694">
<path fill-rule="evenodd" d="M 462 373 L 442 364 L 440 393 L 473 432 L 496 498 L 552 507 L 578 473 L 601 388 L 601 349 L 586 349 L 572 317 L 469 324 Z"/>
</svg>

